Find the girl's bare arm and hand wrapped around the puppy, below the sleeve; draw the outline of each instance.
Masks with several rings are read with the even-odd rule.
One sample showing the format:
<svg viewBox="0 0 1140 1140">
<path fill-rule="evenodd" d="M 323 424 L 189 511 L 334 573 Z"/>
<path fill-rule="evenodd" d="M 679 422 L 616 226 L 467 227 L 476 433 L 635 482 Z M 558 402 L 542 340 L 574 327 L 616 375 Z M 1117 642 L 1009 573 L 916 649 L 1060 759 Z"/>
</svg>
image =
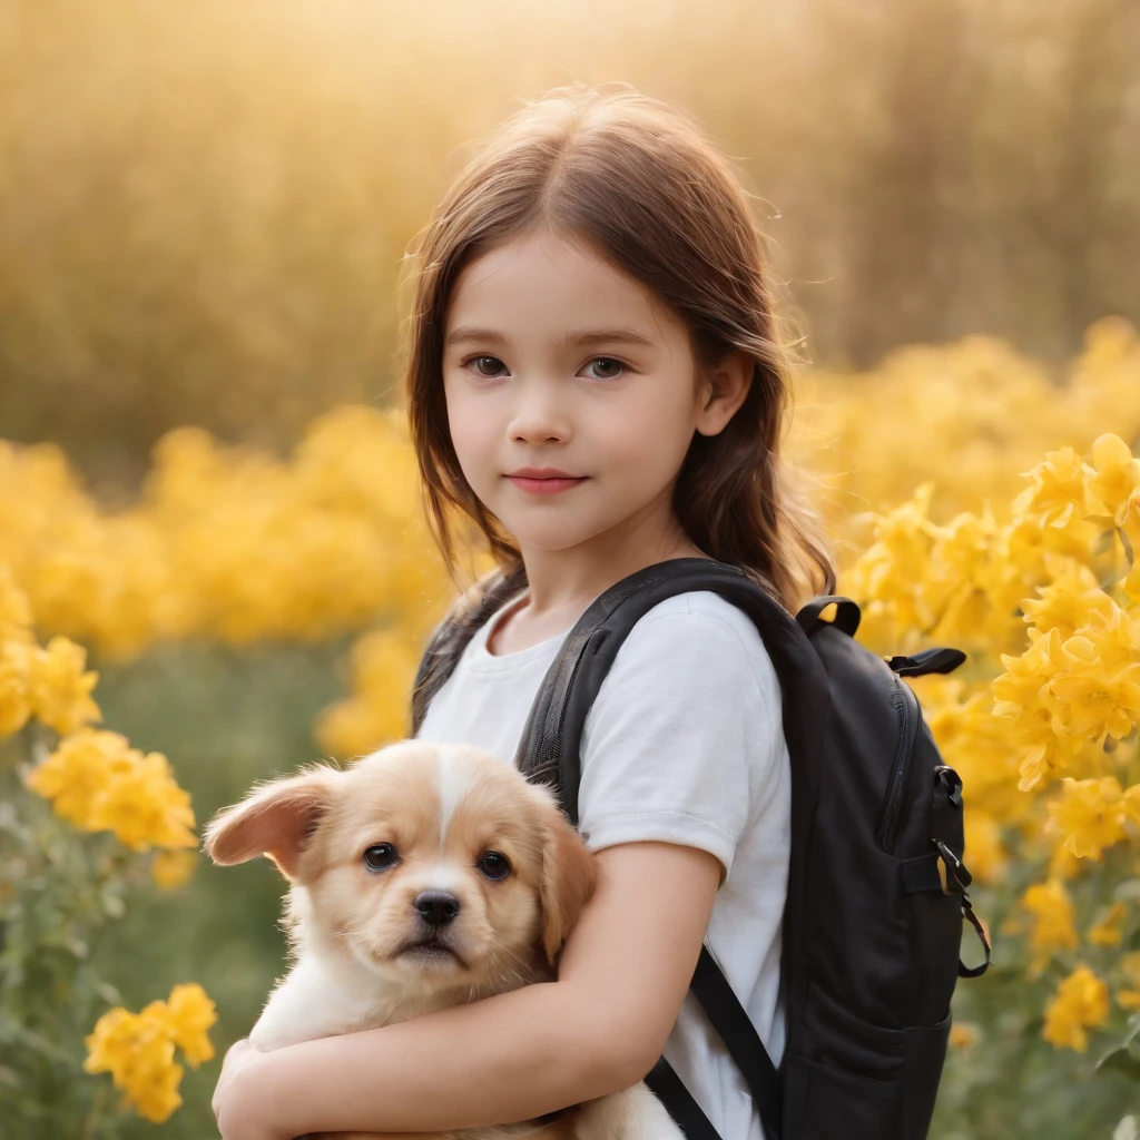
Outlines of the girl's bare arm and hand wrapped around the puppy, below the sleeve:
<svg viewBox="0 0 1140 1140">
<path fill-rule="evenodd" d="M 665 842 L 621 844 L 596 858 L 597 889 L 557 982 L 246 1053 L 223 1068 L 214 1097 L 223 1140 L 479 1127 L 636 1084 L 689 990 L 722 864 Z"/>
</svg>

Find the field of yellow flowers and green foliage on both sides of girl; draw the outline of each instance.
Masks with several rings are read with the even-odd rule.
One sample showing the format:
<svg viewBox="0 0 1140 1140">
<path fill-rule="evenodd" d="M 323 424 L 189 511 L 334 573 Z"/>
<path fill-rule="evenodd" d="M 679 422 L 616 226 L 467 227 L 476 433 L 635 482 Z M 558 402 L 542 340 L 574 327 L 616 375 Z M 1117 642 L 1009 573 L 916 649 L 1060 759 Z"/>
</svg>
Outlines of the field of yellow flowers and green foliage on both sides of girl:
<svg viewBox="0 0 1140 1140">
<path fill-rule="evenodd" d="M 1098 321 L 1060 368 L 978 336 L 805 373 L 788 453 L 860 640 L 968 654 L 911 682 L 964 781 L 994 944 L 955 997 L 933 1135 L 1126 1135 L 1140 336 Z M 280 883 L 199 865 L 198 828 L 405 732 L 454 589 L 416 504 L 398 410 L 336 408 L 287 457 L 170 432 L 114 507 L 56 447 L 0 441 L 5 1138 L 211 1134 L 218 1058 L 282 969 Z"/>
</svg>

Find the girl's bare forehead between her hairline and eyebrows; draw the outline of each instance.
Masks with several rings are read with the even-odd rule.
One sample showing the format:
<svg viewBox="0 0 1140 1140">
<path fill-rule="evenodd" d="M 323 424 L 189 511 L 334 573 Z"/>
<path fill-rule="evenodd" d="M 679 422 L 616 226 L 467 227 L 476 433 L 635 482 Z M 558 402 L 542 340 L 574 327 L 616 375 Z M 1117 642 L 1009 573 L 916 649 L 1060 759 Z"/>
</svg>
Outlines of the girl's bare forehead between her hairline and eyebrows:
<svg viewBox="0 0 1140 1140">
<path fill-rule="evenodd" d="M 463 270 L 448 306 L 447 339 L 455 344 L 474 329 L 556 339 L 624 327 L 660 341 L 675 335 L 677 324 L 636 277 L 585 243 L 539 230 L 488 250 Z"/>
</svg>

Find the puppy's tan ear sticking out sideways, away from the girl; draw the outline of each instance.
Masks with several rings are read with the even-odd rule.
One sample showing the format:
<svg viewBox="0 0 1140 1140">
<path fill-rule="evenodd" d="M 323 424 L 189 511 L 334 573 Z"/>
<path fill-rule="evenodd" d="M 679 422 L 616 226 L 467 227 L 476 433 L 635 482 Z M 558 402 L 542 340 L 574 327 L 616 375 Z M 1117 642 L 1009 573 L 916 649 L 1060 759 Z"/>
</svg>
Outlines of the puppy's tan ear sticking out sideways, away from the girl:
<svg viewBox="0 0 1140 1140">
<path fill-rule="evenodd" d="M 340 777 L 336 768 L 319 765 L 255 788 L 206 825 L 206 854 L 221 866 L 268 855 L 286 879 L 295 879 L 301 854 Z"/>
</svg>

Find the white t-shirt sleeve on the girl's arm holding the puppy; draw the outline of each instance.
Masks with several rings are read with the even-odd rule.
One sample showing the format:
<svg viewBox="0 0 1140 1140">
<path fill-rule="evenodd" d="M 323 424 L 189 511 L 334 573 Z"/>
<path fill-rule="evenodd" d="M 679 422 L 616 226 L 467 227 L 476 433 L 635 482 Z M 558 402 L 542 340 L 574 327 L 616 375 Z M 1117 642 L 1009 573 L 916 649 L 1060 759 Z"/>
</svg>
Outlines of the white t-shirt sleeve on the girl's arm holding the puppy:
<svg viewBox="0 0 1140 1140">
<path fill-rule="evenodd" d="M 591 849 L 698 847 L 720 861 L 723 882 L 774 783 L 775 684 L 756 627 L 731 603 L 682 594 L 650 610 L 583 730 L 579 828 Z"/>
</svg>

